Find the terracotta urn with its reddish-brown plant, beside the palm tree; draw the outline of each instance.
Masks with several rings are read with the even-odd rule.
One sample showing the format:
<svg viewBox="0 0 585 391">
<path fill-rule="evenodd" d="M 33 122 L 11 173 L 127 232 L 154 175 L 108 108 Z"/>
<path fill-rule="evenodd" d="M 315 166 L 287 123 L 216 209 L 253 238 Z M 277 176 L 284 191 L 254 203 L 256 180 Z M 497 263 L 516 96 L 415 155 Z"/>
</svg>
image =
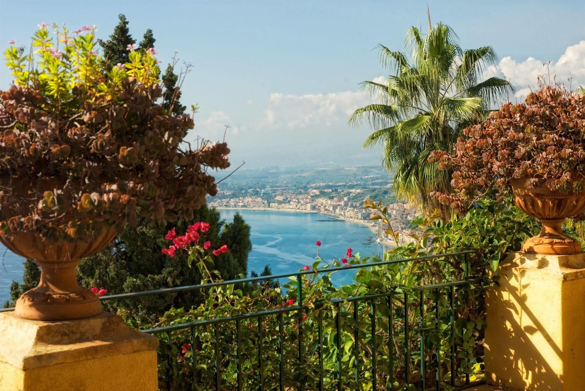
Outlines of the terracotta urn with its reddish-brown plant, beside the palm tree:
<svg viewBox="0 0 585 391">
<path fill-rule="evenodd" d="M 525 104 L 504 103 L 483 123 L 467 127 L 453 153 L 429 158 L 452 169 L 453 194 L 433 196 L 464 210 L 495 191 L 542 223 L 522 251 L 577 254 L 579 242 L 561 224 L 585 210 L 585 96 L 541 85 Z"/>
</svg>

